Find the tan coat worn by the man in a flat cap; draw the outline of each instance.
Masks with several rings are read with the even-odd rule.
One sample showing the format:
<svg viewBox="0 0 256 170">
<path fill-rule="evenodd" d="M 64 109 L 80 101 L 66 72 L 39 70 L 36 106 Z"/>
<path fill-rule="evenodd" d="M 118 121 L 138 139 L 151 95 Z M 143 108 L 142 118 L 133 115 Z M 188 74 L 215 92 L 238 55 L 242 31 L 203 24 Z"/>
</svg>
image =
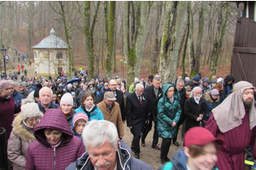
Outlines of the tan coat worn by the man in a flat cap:
<svg viewBox="0 0 256 170">
<path fill-rule="evenodd" d="M 113 122 L 115 127 L 117 127 L 117 129 L 118 129 L 119 136 L 124 136 L 125 130 L 124 130 L 124 124 L 122 122 L 122 116 L 121 116 L 119 103 L 113 102 L 113 108 L 112 108 L 111 112 L 108 110 L 107 105 L 104 102 L 104 99 L 97 106 L 102 111 L 104 120 Z"/>
</svg>

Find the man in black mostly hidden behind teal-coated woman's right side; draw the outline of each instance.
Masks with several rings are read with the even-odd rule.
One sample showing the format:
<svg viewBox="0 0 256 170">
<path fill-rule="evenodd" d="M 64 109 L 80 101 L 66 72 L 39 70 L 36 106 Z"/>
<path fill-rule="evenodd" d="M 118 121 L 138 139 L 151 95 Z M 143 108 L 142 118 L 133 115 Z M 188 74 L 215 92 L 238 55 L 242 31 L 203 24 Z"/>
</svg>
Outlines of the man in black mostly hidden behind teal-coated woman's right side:
<svg viewBox="0 0 256 170">
<path fill-rule="evenodd" d="M 180 105 L 180 108 L 182 110 L 182 113 L 180 115 L 179 121 L 177 122 L 177 126 L 176 126 L 177 131 L 178 131 L 178 127 L 180 127 L 183 124 L 183 122 L 185 121 L 185 116 L 184 116 L 184 113 L 183 113 L 183 107 L 184 107 L 185 100 L 186 100 L 186 90 L 184 89 L 183 79 L 177 79 L 176 88 L 177 88 L 177 90 L 179 92 L 179 95 L 180 95 L 179 105 Z M 179 144 L 177 143 L 177 133 L 176 133 L 176 137 L 174 137 L 172 139 L 172 144 L 174 144 L 176 146 L 179 146 Z"/>
</svg>

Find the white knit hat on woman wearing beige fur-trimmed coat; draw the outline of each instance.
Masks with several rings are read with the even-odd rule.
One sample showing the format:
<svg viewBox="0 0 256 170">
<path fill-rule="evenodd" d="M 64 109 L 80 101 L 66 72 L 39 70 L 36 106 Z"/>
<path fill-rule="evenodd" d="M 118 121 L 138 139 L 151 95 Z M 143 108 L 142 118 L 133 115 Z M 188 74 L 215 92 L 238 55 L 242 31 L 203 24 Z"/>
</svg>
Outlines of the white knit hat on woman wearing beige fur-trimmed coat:
<svg viewBox="0 0 256 170">
<path fill-rule="evenodd" d="M 43 114 L 33 99 L 22 99 L 20 110 L 23 121 L 29 117 L 41 116 Z"/>
</svg>

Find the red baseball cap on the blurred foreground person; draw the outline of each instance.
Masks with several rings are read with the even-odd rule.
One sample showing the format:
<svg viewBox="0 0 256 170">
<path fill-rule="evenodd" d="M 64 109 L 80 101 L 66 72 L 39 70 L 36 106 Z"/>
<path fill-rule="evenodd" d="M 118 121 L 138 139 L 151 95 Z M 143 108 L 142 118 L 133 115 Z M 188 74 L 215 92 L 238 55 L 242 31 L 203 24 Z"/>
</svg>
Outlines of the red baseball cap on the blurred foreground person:
<svg viewBox="0 0 256 170">
<path fill-rule="evenodd" d="M 204 127 L 192 127 L 184 135 L 184 145 L 189 148 L 191 144 L 195 145 L 206 145 L 214 141 L 219 144 L 224 144 L 223 139 L 218 139 L 213 136 L 213 134 Z"/>
</svg>

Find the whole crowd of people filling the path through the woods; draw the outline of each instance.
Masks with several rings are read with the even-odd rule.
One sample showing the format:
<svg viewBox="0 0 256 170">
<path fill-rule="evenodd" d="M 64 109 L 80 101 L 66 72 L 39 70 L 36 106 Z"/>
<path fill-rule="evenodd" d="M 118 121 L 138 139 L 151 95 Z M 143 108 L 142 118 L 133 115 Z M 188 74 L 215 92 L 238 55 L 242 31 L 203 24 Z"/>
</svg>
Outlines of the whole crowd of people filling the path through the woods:
<svg viewBox="0 0 256 170">
<path fill-rule="evenodd" d="M 163 84 L 150 75 L 126 87 L 119 77 L 88 80 L 77 72 L 73 82 L 65 75 L 0 81 L 0 127 L 13 169 L 153 169 L 139 161 L 153 125 L 160 169 L 245 170 L 244 150 L 256 158 L 250 82 L 199 74 Z M 122 140 L 125 122 L 131 147 Z M 183 148 L 171 161 L 179 136 Z"/>
</svg>

